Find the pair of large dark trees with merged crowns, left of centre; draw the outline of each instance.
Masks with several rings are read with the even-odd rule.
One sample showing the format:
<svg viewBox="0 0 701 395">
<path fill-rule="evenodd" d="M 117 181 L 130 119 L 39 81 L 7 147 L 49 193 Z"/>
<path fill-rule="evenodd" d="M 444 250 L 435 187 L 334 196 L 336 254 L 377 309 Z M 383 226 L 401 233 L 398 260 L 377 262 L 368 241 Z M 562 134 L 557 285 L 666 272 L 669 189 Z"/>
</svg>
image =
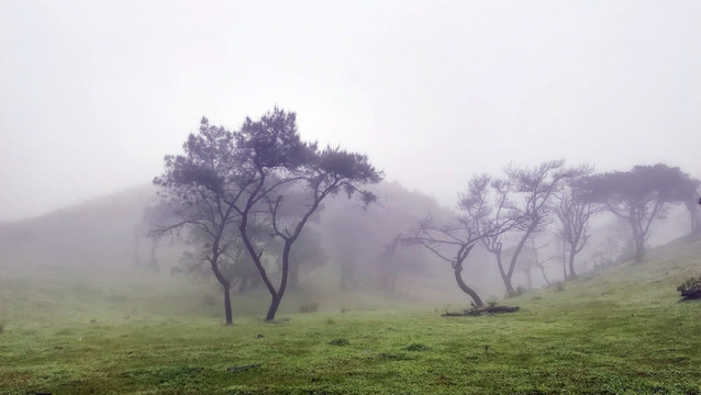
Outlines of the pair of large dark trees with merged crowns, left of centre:
<svg viewBox="0 0 701 395">
<path fill-rule="evenodd" d="M 190 135 L 183 148 L 186 155 L 166 157 L 166 172 L 154 182 L 186 210 L 178 224 L 158 233 L 194 226 L 208 236 L 207 259 L 224 287 L 227 323 L 231 282 L 220 270 L 220 258 L 232 247 L 225 235 L 240 235 L 271 296 L 266 319 L 274 319 L 287 289 L 292 246 L 322 201 L 343 191 L 369 204 L 376 198 L 364 187 L 382 178 L 365 155 L 302 142 L 297 115 L 278 108 L 258 121 L 247 117 L 234 132 L 203 119 L 199 135 Z M 260 233 L 281 239 L 281 251 L 258 242 Z M 281 257 L 278 284 L 264 266 L 266 252 Z"/>
</svg>

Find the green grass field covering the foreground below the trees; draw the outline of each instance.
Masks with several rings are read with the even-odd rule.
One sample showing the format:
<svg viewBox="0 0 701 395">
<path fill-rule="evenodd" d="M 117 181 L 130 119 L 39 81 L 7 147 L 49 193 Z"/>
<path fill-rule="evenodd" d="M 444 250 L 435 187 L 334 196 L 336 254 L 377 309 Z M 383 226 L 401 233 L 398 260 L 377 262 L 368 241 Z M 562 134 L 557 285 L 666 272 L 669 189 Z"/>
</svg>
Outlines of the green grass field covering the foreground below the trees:
<svg viewBox="0 0 701 395">
<path fill-rule="evenodd" d="M 701 394 L 701 301 L 676 291 L 700 257 L 677 241 L 500 302 L 514 314 L 238 309 L 229 327 L 190 291 L 5 278 L 0 394 Z"/>
</svg>

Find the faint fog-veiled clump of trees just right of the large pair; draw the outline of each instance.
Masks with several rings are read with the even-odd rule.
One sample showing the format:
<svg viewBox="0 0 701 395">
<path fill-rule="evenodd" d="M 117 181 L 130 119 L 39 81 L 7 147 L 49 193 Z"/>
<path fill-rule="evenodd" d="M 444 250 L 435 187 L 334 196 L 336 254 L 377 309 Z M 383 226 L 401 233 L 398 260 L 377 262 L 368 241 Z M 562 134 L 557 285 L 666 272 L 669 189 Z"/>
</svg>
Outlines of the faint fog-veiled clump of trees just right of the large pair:
<svg viewBox="0 0 701 395">
<path fill-rule="evenodd" d="M 330 200 L 316 226 L 331 264 L 341 269 L 342 289 L 369 285 L 392 292 L 401 287 L 402 275 L 425 275 L 429 269 L 429 252 L 421 246 L 396 242 L 397 235 L 427 213 L 443 215 L 444 210 L 433 199 L 397 182 L 383 182 L 376 190 L 378 204 L 361 212 L 353 201 Z"/>
</svg>

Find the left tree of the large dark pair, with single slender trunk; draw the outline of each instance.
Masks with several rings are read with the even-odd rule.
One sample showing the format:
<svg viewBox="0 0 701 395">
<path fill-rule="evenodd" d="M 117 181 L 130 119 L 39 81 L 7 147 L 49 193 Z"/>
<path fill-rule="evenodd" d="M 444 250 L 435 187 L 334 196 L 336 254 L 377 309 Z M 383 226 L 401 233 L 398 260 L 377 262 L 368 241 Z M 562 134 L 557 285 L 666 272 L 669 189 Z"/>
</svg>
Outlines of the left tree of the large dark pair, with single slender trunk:
<svg viewBox="0 0 701 395">
<path fill-rule="evenodd" d="M 178 219 L 174 224 L 159 224 L 152 232 L 155 236 L 179 232 L 183 227 L 197 229 L 201 235 L 205 259 L 224 292 L 226 324 L 233 324 L 231 307 L 231 279 L 224 275 L 221 261 L 232 248 L 231 233 L 237 224 L 238 214 L 232 201 L 240 191 L 227 188 L 225 181 L 236 172 L 231 160 L 233 135 L 220 127 L 209 125 L 202 119 L 200 133 L 190 134 L 182 145 L 185 155 L 167 155 L 165 172 L 154 179 L 162 188 L 163 201 L 174 202 Z"/>
</svg>

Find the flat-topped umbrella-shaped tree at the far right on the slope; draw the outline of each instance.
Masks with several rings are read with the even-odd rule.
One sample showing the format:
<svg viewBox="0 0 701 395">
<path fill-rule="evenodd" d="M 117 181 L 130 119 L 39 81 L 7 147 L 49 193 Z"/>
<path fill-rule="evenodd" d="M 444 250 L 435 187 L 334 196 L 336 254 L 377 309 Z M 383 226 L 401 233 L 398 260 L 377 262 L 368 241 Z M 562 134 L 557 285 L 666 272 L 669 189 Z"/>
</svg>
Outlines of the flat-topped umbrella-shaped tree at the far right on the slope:
<svg viewBox="0 0 701 395">
<path fill-rule="evenodd" d="M 697 198 L 693 180 L 679 168 L 663 163 L 591 176 L 583 188 L 586 199 L 603 204 L 607 211 L 628 223 L 637 262 L 645 256 L 653 222 L 665 216 L 670 203 L 689 207 Z"/>
</svg>

